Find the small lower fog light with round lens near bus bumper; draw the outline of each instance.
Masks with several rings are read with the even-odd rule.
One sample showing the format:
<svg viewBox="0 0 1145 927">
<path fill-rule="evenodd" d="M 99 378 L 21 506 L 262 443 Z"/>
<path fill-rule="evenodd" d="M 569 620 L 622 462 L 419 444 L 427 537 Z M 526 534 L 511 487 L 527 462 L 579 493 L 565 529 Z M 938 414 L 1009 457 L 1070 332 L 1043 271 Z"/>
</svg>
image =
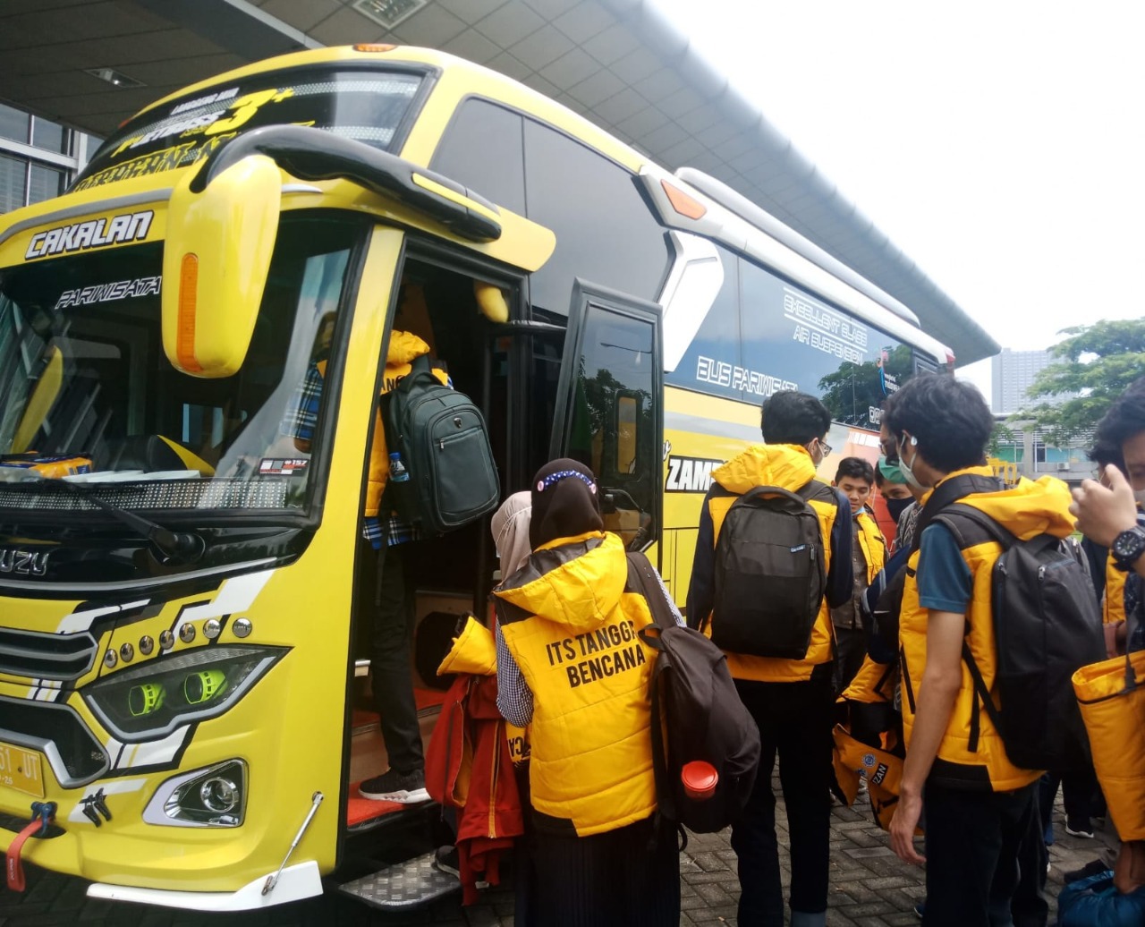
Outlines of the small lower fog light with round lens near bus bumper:
<svg viewBox="0 0 1145 927">
<path fill-rule="evenodd" d="M 143 811 L 167 827 L 240 827 L 246 815 L 246 763 L 227 760 L 167 779 Z"/>
</svg>

